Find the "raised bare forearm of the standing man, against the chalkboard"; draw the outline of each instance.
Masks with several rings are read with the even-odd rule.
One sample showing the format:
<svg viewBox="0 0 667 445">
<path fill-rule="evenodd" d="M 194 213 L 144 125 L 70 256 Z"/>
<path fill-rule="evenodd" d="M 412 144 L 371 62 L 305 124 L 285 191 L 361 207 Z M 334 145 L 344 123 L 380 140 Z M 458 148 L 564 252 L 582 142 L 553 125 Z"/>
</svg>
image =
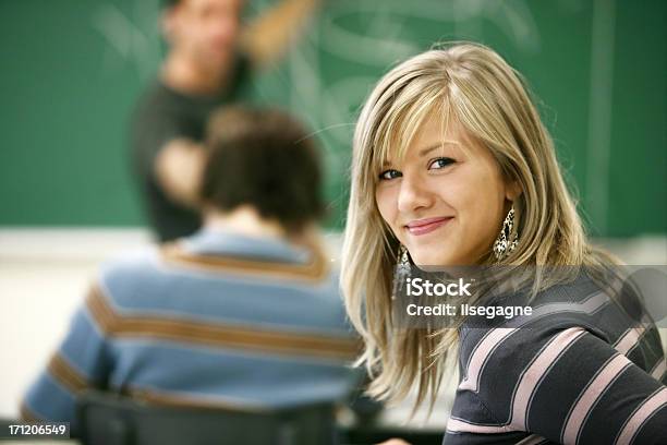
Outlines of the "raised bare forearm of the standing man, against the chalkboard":
<svg viewBox="0 0 667 445">
<path fill-rule="evenodd" d="M 319 0 L 283 0 L 248 24 L 241 46 L 255 67 L 276 62 Z"/>
</svg>

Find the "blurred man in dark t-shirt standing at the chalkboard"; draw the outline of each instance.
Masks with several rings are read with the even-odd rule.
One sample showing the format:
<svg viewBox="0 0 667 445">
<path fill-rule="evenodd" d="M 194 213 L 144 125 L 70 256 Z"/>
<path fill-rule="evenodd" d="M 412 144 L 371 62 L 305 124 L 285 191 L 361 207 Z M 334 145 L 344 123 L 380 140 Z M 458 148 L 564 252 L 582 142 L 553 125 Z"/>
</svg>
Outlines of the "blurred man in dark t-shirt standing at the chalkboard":
<svg viewBox="0 0 667 445">
<path fill-rule="evenodd" d="M 209 113 L 238 99 L 253 70 L 284 51 L 317 0 L 282 0 L 242 26 L 243 0 L 165 0 L 169 52 L 132 120 L 134 170 L 160 241 L 201 226 L 196 189 Z"/>
</svg>

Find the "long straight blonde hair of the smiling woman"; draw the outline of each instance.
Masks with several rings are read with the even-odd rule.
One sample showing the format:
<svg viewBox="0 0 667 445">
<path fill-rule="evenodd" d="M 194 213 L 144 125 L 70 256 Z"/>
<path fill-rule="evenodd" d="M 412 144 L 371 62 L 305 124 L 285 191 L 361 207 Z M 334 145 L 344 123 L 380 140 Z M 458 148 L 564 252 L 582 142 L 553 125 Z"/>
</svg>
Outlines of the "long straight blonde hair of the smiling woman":
<svg viewBox="0 0 667 445">
<path fill-rule="evenodd" d="M 587 243 L 554 143 L 521 74 L 498 53 L 461 43 L 426 51 L 389 71 L 366 100 L 354 133 L 341 286 L 351 322 L 365 341 L 357 363 L 364 363 L 373 378 L 369 394 L 400 400 L 416 382 L 415 409 L 427 395 L 433 406 L 445 363 L 456 356 L 451 350 L 458 330 L 393 325 L 390 287 L 399 242 L 379 215 L 375 189 L 388 154 L 404 153 L 433 113 L 441 113 L 444 122 L 456 120 L 521 190 L 513 202 L 521 242 L 500 264 L 614 261 Z"/>
</svg>

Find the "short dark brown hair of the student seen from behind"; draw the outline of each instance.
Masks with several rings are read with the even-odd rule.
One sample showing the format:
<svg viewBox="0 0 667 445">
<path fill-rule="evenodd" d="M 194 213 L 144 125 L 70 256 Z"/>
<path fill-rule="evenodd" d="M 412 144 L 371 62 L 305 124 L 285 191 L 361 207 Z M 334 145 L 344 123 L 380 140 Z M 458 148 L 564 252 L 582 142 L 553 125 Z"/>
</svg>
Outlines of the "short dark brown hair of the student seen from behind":
<svg viewBox="0 0 667 445">
<path fill-rule="evenodd" d="M 323 214 L 322 171 L 313 137 L 288 113 L 223 108 L 208 123 L 202 200 L 229 212 L 248 204 L 299 231 Z"/>
</svg>

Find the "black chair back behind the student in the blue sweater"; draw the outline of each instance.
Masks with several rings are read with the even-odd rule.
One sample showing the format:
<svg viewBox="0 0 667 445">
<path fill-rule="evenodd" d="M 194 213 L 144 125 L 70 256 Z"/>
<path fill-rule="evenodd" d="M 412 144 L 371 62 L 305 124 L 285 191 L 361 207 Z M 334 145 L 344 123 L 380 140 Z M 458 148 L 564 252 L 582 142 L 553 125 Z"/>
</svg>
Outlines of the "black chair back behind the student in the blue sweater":
<svg viewBox="0 0 667 445">
<path fill-rule="evenodd" d="M 83 445 L 335 445 L 333 406 L 315 404 L 262 412 L 147 405 L 89 392 L 77 400 Z"/>
</svg>

